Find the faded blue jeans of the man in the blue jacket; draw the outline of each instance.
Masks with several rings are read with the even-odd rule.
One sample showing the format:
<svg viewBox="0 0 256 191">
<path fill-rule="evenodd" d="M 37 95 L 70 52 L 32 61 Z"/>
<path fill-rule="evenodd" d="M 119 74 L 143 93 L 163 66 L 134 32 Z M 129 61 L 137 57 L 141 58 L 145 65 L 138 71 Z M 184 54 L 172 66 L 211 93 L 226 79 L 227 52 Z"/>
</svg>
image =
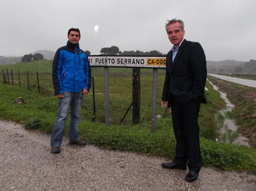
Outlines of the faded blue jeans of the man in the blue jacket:
<svg viewBox="0 0 256 191">
<path fill-rule="evenodd" d="M 58 112 L 52 130 L 51 147 L 60 146 L 64 136 L 65 122 L 71 107 L 71 120 L 69 124 L 69 141 L 79 141 L 78 125 L 80 121 L 80 107 L 83 99 L 82 92 L 64 91 L 64 97 L 59 99 Z"/>
</svg>

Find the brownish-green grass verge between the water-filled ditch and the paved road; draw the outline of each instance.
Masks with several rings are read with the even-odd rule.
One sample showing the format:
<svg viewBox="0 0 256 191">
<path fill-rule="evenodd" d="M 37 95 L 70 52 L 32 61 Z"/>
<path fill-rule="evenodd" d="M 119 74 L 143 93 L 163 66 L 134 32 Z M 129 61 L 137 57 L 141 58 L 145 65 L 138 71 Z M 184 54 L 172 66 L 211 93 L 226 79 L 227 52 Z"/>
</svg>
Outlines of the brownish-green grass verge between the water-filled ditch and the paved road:
<svg viewBox="0 0 256 191">
<path fill-rule="evenodd" d="M 238 133 L 256 148 L 256 89 L 209 76 L 208 79 L 224 92 L 235 108 L 228 113 L 238 126 Z"/>
</svg>

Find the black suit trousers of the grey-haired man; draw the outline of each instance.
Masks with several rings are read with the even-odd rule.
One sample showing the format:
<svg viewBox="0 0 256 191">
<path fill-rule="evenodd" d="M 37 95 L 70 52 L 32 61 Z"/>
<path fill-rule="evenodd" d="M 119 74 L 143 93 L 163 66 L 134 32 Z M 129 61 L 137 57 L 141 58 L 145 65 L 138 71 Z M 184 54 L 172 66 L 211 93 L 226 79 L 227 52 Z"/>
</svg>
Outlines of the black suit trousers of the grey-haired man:
<svg viewBox="0 0 256 191">
<path fill-rule="evenodd" d="M 199 172 L 202 166 L 198 115 L 200 100 L 181 103 L 172 96 L 171 114 L 176 138 L 176 154 L 173 162 L 185 165 L 189 171 Z"/>
</svg>

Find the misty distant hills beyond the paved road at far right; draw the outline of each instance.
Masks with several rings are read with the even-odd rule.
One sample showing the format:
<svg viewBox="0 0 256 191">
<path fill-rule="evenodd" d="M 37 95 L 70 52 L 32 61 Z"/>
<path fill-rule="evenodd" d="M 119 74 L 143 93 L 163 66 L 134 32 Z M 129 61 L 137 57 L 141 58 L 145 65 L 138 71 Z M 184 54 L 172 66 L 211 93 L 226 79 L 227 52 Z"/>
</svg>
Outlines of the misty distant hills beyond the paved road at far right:
<svg viewBox="0 0 256 191">
<path fill-rule="evenodd" d="M 256 74 L 256 60 L 207 61 L 207 72 L 212 74 Z"/>
</svg>

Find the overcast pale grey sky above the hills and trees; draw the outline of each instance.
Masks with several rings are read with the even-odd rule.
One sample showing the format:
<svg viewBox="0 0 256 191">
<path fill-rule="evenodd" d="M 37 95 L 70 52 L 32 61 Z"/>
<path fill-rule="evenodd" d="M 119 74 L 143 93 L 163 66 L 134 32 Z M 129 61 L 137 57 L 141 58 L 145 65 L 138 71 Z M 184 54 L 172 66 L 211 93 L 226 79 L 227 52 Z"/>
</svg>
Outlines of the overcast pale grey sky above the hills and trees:
<svg viewBox="0 0 256 191">
<path fill-rule="evenodd" d="M 92 54 L 110 46 L 167 53 L 172 44 L 164 26 L 177 18 L 207 60 L 256 60 L 255 7 L 255 0 L 0 0 L 0 56 L 55 52 L 71 27 Z"/>
</svg>

